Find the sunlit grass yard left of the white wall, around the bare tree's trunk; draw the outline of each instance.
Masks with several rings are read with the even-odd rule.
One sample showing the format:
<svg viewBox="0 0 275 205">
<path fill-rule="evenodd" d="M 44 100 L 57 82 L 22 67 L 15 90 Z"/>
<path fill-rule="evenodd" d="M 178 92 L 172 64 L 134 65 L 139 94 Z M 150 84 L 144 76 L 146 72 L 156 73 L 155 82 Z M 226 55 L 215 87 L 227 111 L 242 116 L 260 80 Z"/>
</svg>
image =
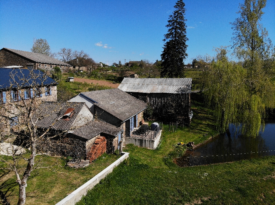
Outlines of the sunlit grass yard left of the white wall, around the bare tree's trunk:
<svg viewBox="0 0 275 205">
<path fill-rule="evenodd" d="M 88 167 L 79 169 L 65 167 L 66 162 L 62 158 L 46 157 L 44 165 L 51 165 L 57 161 L 61 167 L 35 169 L 31 172 L 26 188 L 26 204 L 56 204 L 115 162 L 118 157 L 117 155 L 104 154 Z M 19 188 L 14 172 L 0 170 L 0 184 L 0 191 L 5 194 L 7 201 L 10 204 L 16 204 Z"/>
</svg>

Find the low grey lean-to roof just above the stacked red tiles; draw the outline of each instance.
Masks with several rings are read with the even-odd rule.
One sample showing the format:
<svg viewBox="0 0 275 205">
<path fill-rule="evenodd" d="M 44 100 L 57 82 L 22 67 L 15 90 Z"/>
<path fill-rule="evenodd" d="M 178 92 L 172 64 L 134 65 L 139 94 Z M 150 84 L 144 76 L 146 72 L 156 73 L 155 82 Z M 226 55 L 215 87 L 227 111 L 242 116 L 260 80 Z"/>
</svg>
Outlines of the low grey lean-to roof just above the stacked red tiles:
<svg viewBox="0 0 275 205">
<path fill-rule="evenodd" d="M 85 126 L 70 131 L 73 131 L 74 133 L 72 134 L 76 136 L 89 140 L 101 133 L 117 136 L 122 130 L 101 120 L 95 120 L 88 122 Z"/>
</svg>

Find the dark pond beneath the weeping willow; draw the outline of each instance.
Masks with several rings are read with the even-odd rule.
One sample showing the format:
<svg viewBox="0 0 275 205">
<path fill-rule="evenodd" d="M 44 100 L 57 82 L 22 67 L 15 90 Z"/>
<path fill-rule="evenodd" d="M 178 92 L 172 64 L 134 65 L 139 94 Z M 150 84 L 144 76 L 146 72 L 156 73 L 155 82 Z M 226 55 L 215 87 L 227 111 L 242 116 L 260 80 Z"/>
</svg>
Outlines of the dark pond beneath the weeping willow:
<svg viewBox="0 0 275 205">
<path fill-rule="evenodd" d="M 257 137 L 244 137 L 240 127 L 229 126 L 230 134 L 220 135 L 176 159 L 179 166 L 208 165 L 275 155 L 275 121 L 265 123 Z"/>
</svg>

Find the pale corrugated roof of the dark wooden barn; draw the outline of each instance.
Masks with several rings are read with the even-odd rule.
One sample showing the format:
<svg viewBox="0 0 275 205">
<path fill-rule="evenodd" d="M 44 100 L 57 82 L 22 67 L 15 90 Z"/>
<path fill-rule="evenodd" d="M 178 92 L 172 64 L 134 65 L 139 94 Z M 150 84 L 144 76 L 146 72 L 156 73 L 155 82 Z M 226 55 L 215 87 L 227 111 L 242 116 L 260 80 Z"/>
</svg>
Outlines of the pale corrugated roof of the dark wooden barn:
<svg viewBox="0 0 275 205">
<path fill-rule="evenodd" d="M 192 78 L 124 78 L 118 89 L 124 92 L 191 93 Z"/>
</svg>

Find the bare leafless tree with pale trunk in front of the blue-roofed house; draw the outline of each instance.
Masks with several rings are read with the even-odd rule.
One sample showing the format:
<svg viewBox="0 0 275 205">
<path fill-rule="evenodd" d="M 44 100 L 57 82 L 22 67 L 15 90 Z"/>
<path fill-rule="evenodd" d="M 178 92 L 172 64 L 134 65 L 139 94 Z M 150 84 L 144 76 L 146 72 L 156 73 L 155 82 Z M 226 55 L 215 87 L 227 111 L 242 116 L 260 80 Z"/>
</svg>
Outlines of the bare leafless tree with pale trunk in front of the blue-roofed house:
<svg viewBox="0 0 275 205">
<path fill-rule="evenodd" d="M 5 92 L 1 91 L 0 140 L 3 143 L 0 151 L 11 157 L 0 155 L 0 169 L 11 170 L 16 175 L 19 185 L 17 205 L 24 205 L 26 202 L 27 180 L 31 172 L 34 169 L 51 167 L 43 164 L 44 154 L 38 150 L 38 146 L 42 145 L 44 137 L 55 124 L 54 121 L 44 130 L 39 130 L 37 126 L 39 119 L 45 117 L 41 115 L 43 110 L 39 110 L 39 105 L 45 99 L 45 93 L 49 92 L 49 86 L 54 86 L 52 83 L 55 82 L 50 82 L 51 78 L 39 70 L 26 72 L 26 69 L 14 69 L 9 75 L 8 88 L 4 85 L 0 87 L 6 88 Z M 56 109 L 60 107 L 57 106 Z M 19 146 L 14 145 L 15 139 L 19 139 Z M 38 155 L 41 157 L 37 158 Z"/>
</svg>

